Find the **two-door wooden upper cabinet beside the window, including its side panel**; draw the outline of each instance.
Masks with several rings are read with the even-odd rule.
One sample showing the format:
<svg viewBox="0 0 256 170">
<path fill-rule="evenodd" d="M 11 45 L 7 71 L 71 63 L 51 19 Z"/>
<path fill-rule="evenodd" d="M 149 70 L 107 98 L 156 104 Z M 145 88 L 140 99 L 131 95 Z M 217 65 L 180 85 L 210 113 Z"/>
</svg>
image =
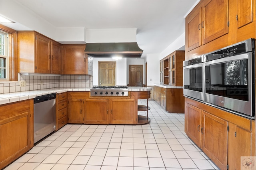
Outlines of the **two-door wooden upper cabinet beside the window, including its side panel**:
<svg viewBox="0 0 256 170">
<path fill-rule="evenodd" d="M 18 73 L 61 74 L 61 44 L 34 31 L 17 34 Z"/>
</svg>

